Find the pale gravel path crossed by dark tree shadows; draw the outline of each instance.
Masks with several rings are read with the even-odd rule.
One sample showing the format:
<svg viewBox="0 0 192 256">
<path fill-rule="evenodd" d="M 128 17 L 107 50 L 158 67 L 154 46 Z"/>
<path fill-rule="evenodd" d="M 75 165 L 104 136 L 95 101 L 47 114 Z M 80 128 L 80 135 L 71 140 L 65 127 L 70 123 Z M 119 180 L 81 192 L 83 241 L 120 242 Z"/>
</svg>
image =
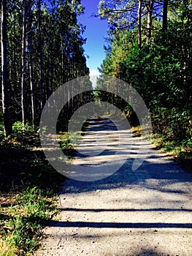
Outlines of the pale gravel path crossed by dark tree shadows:
<svg viewBox="0 0 192 256">
<path fill-rule="evenodd" d="M 91 146 L 101 130 L 110 134 L 107 142 L 105 136 L 101 139 L 104 153 L 77 154 L 75 164 L 91 167 L 100 162 L 109 170 L 115 165 L 112 141 L 117 131 L 109 119 L 91 120 L 83 136 L 85 146 Z M 131 170 L 139 143 L 140 138 L 132 138 L 131 153 L 120 153 L 128 159 L 112 176 L 91 182 L 66 179 L 59 198 L 61 214 L 45 227 L 47 239 L 37 255 L 192 255 L 192 173 L 153 146 L 142 166 Z"/>
</svg>

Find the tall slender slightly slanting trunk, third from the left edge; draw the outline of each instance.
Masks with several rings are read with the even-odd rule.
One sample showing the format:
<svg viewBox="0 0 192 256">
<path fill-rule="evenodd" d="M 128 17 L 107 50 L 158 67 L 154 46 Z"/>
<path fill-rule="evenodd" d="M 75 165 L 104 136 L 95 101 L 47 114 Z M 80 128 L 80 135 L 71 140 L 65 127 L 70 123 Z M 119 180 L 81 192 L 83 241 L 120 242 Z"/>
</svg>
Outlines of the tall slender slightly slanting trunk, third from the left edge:
<svg viewBox="0 0 192 256">
<path fill-rule="evenodd" d="M 28 47 L 29 47 L 29 76 L 31 89 L 31 117 L 33 124 L 36 124 L 36 105 L 34 94 L 34 67 L 33 67 L 33 45 L 32 45 L 32 28 L 31 28 L 31 0 L 28 0 Z"/>
</svg>

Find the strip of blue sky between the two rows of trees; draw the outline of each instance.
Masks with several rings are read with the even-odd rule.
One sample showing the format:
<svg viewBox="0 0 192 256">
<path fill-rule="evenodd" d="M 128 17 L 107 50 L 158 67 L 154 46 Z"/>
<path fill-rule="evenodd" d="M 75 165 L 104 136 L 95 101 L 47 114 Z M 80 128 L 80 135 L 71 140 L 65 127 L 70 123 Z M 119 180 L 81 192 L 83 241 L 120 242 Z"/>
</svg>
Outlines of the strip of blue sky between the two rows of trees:
<svg viewBox="0 0 192 256">
<path fill-rule="evenodd" d="M 100 67 L 105 58 L 104 37 L 107 36 L 107 20 L 91 17 L 91 15 L 98 12 L 99 0 L 82 0 L 81 3 L 85 7 L 85 14 L 80 15 L 78 20 L 86 26 L 83 34 L 83 37 L 87 38 L 87 42 L 84 45 L 85 56 L 89 56 L 87 65 L 91 75 L 97 75 L 99 73 L 97 68 Z"/>
</svg>

